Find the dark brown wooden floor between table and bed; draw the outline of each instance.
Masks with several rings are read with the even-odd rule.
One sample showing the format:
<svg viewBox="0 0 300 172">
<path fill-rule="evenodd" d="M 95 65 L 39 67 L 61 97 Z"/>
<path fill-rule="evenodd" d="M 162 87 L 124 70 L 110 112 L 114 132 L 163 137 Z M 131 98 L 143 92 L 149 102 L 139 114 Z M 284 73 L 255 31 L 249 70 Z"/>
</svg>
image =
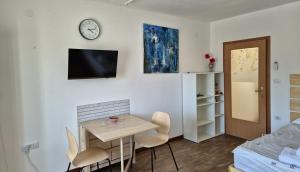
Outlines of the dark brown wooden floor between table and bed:
<svg viewBox="0 0 300 172">
<path fill-rule="evenodd" d="M 185 139 L 172 141 L 170 144 L 174 151 L 180 172 L 225 172 L 228 165 L 233 163 L 232 150 L 245 142 L 232 136 L 222 135 L 208 141 L 196 144 Z M 154 163 L 155 172 L 174 172 L 176 167 L 167 145 L 156 149 L 157 159 Z M 132 172 L 151 171 L 150 151 L 143 150 L 137 153 L 136 164 Z M 120 171 L 120 164 L 113 166 L 113 172 Z M 109 172 L 102 169 L 101 172 Z"/>
</svg>

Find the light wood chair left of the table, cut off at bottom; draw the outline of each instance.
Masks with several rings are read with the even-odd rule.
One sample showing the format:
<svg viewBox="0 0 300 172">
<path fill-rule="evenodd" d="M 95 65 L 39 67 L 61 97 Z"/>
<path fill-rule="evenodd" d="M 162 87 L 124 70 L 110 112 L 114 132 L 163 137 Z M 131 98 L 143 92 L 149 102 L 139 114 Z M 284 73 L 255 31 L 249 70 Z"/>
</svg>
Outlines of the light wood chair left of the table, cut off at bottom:
<svg viewBox="0 0 300 172">
<path fill-rule="evenodd" d="M 99 161 L 103 161 L 103 160 L 108 161 L 110 166 L 110 171 L 112 172 L 111 162 L 109 160 L 108 153 L 105 150 L 100 148 L 89 148 L 79 153 L 78 145 L 74 135 L 69 129 L 66 128 L 66 130 L 67 130 L 67 137 L 68 137 L 68 144 L 69 144 L 67 157 L 70 160 L 70 163 L 68 165 L 68 170 L 67 170 L 68 172 L 70 170 L 71 164 L 74 167 L 80 168 L 80 170 L 82 170 L 84 167 L 88 165 L 97 163 L 97 169 L 99 169 Z"/>
</svg>

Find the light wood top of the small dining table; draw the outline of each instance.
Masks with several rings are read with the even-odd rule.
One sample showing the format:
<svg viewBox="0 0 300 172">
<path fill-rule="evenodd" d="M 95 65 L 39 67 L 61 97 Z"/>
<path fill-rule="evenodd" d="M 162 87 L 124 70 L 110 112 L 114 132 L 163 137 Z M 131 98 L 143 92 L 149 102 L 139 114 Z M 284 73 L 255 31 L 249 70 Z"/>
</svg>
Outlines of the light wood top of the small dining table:
<svg viewBox="0 0 300 172">
<path fill-rule="evenodd" d="M 158 128 L 157 125 L 134 115 L 120 115 L 118 117 L 119 120 L 116 123 L 110 122 L 108 118 L 102 118 L 83 122 L 81 125 L 103 142 Z"/>
</svg>

